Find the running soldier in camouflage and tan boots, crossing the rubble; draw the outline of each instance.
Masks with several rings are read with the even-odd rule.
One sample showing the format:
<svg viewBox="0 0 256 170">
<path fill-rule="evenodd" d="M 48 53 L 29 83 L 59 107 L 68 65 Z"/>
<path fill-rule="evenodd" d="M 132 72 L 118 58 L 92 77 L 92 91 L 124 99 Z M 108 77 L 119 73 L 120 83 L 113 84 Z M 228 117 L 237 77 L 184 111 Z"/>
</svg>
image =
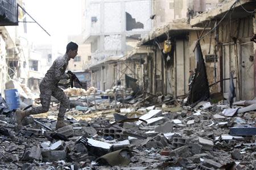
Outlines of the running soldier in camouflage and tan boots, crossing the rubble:
<svg viewBox="0 0 256 170">
<path fill-rule="evenodd" d="M 61 79 L 69 79 L 71 77 L 71 75 L 65 73 L 65 70 L 67 69 L 68 61 L 76 57 L 77 50 L 78 45 L 75 42 L 69 42 L 64 56 L 55 59 L 42 82 L 39 84 L 42 107 L 32 107 L 32 109 L 26 111 L 16 111 L 16 121 L 18 124 L 21 124 L 23 118 L 26 116 L 48 112 L 51 96 L 53 96 L 60 101 L 56 129 L 67 126 L 64 123 L 64 115 L 69 105 L 69 99 L 64 94 L 63 90 L 57 87 L 57 84 Z"/>
</svg>

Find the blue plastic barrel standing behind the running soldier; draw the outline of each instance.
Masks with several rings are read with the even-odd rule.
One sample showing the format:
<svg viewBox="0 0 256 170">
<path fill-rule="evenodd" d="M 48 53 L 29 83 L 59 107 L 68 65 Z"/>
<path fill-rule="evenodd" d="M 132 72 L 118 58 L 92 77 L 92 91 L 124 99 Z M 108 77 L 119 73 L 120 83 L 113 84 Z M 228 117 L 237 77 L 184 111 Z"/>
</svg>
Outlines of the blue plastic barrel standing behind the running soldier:
<svg viewBox="0 0 256 170">
<path fill-rule="evenodd" d="M 9 109 L 18 109 L 20 107 L 18 90 L 15 88 L 5 90 L 5 101 Z"/>
</svg>

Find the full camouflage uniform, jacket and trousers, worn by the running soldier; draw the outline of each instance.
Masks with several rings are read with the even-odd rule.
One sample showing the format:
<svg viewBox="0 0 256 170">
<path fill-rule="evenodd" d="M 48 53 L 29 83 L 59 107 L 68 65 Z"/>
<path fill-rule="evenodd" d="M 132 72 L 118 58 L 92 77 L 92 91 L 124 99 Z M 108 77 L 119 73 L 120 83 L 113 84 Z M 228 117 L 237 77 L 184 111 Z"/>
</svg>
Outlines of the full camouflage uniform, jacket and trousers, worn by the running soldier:
<svg viewBox="0 0 256 170">
<path fill-rule="evenodd" d="M 57 83 L 61 79 L 68 79 L 69 75 L 65 73 L 68 66 L 69 57 L 65 54 L 63 57 L 58 57 L 53 62 L 52 66 L 47 71 L 42 82 L 39 85 L 40 100 L 42 107 L 35 107 L 30 110 L 30 114 L 45 113 L 49 110 L 51 96 L 60 101 L 58 120 L 63 120 L 66 109 L 69 105 L 69 99 L 64 94 L 63 90 L 57 87 Z"/>
</svg>

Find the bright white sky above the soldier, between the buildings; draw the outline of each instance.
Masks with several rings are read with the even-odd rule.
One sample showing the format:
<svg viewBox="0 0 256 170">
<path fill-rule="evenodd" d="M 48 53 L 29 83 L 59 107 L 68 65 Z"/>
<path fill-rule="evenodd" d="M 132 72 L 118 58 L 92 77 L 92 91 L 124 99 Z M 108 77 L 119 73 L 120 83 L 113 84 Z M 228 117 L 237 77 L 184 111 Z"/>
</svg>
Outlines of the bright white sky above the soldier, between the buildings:
<svg viewBox="0 0 256 170">
<path fill-rule="evenodd" d="M 27 23 L 28 41 L 34 44 L 52 43 L 65 53 L 69 35 L 81 33 L 81 1 L 85 0 L 23 0 L 26 11 L 46 31 L 36 23 Z M 32 21 L 27 17 L 27 21 Z"/>
</svg>

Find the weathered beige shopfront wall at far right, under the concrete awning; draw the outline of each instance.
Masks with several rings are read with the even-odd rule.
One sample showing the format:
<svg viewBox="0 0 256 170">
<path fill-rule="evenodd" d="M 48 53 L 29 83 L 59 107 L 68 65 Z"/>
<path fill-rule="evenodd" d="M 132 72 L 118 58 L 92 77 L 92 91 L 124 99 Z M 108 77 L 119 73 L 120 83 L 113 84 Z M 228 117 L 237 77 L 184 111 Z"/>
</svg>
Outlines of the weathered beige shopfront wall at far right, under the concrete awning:
<svg viewBox="0 0 256 170">
<path fill-rule="evenodd" d="M 220 24 L 219 33 L 223 44 L 219 50 L 222 50 L 225 66 L 223 78 L 229 78 L 230 71 L 234 71 L 234 77 L 240 78 L 239 82 L 238 79 L 234 82 L 238 100 L 253 99 L 255 87 L 251 84 L 254 84 L 254 49 L 250 41 L 254 33 L 253 18 L 235 19 L 231 24 L 226 20 Z M 225 81 L 224 92 L 228 91 L 229 82 Z"/>
</svg>

